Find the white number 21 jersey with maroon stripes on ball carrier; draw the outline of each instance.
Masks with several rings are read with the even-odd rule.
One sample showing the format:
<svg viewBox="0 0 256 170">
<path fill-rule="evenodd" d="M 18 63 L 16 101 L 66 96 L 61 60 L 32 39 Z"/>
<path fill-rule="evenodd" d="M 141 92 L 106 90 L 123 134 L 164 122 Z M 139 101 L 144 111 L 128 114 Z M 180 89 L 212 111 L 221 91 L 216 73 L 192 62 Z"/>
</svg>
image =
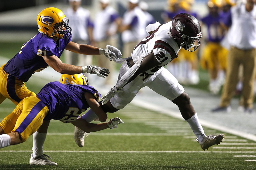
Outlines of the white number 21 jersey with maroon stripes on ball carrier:
<svg viewBox="0 0 256 170">
<path fill-rule="evenodd" d="M 169 34 L 171 25 L 172 21 L 159 26 L 154 33 L 140 41 L 132 52 L 133 61 L 136 61 L 138 56 L 146 56 L 151 52 L 154 53 L 160 65 L 146 71 L 148 74 L 154 74 L 162 66 L 170 63 L 178 56 L 180 47 L 174 41 L 171 34 Z"/>
</svg>

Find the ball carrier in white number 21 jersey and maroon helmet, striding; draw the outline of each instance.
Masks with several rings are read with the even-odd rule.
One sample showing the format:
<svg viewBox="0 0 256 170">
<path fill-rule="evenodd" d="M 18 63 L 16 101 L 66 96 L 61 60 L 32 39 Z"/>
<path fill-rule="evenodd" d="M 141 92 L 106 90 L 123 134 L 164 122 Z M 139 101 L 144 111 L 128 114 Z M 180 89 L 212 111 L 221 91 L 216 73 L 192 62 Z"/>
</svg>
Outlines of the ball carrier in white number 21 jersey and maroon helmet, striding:
<svg viewBox="0 0 256 170">
<path fill-rule="evenodd" d="M 204 134 L 188 94 L 177 79 L 163 67 L 178 57 L 181 47 L 188 51 L 195 51 L 199 47 L 199 39 L 202 37 L 199 22 L 192 15 L 181 13 L 172 21 L 151 31 L 152 28 L 154 25 L 147 26 L 149 35 L 134 48 L 131 57 L 116 61 L 126 60 L 119 70 L 117 84 L 100 101 L 102 109 L 106 113 L 116 112 L 130 103 L 142 87 L 148 86 L 179 107 L 182 117 L 188 122 L 203 150 L 220 144 L 225 136 Z M 116 51 L 119 52 L 118 49 Z M 97 115 L 89 110 L 82 118 L 91 122 Z M 75 134 L 76 139 L 84 142 L 84 133 L 80 129 L 76 128 Z"/>
</svg>

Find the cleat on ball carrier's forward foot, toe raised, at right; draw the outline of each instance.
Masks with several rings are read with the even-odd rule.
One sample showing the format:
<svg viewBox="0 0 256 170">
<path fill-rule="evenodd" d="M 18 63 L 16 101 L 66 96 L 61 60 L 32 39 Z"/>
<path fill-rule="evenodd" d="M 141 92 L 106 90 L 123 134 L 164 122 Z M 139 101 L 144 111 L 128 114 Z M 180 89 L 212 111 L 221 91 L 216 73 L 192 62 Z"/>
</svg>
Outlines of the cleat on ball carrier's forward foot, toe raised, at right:
<svg viewBox="0 0 256 170">
<path fill-rule="evenodd" d="M 222 142 L 222 139 L 225 137 L 225 135 L 220 134 L 217 135 L 216 134 L 212 134 L 207 136 L 202 142 L 199 142 L 198 138 L 196 138 L 196 142 L 198 142 L 201 146 L 201 148 L 205 151 L 205 149 L 208 150 L 209 147 L 211 147 L 214 144 L 220 144 L 220 142 Z"/>
</svg>

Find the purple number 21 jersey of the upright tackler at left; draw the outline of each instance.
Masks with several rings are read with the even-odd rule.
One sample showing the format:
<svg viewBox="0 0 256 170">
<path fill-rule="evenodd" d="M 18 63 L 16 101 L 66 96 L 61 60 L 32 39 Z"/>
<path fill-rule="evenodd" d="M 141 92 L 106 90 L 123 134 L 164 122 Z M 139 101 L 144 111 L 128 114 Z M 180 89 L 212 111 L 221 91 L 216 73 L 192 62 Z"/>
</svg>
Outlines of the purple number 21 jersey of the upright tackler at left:
<svg viewBox="0 0 256 170">
<path fill-rule="evenodd" d="M 69 42 L 70 39 L 58 39 L 55 42 L 47 35 L 37 33 L 21 47 L 19 53 L 6 63 L 4 71 L 26 82 L 32 74 L 49 66 L 44 61 L 43 55 L 56 55 L 60 58 Z"/>
</svg>

